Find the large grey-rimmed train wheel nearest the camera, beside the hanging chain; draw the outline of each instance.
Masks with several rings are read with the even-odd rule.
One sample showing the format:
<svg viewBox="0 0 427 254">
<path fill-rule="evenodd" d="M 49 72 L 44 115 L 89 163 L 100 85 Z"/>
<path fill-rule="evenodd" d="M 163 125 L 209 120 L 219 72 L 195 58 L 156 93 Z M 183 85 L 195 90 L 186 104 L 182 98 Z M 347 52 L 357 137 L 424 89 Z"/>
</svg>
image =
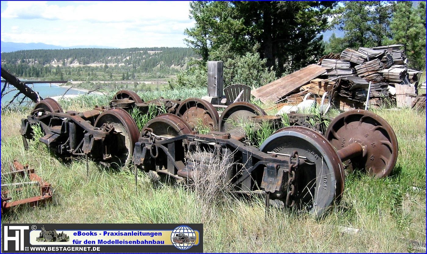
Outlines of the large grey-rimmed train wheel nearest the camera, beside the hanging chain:
<svg viewBox="0 0 427 254">
<path fill-rule="evenodd" d="M 329 142 L 306 127 L 290 126 L 278 130 L 260 146 L 260 151 L 307 157 L 296 169 L 298 195 L 295 202 L 321 216 L 326 208 L 339 202 L 344 191 L 344 170 Z M 301 157 L 300 157 L 301 158 Z"/>
</svg>

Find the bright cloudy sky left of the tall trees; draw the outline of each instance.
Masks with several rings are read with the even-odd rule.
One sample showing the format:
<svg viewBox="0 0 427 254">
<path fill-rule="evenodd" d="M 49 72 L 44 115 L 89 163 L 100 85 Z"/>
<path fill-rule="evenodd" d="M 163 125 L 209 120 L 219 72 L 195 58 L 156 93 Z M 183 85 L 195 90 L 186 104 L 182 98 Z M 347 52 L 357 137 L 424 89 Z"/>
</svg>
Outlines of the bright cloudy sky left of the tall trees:
<svg viewBox="0 0 427 254">
<path fill-rule="evenodd" d="M 189 1 L 1 1 L 1 40 L 57 46 L 186 47 Z"/>
</svg>

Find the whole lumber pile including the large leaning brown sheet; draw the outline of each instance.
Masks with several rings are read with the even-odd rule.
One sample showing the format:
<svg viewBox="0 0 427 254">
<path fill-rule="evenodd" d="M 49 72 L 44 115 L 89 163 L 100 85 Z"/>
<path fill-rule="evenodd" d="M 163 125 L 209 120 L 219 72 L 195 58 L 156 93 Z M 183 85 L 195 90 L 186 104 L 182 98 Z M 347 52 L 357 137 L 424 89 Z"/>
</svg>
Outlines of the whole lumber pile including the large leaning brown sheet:
<svg viewBox="0 0 427 254">
<path fill-rule="evenodd" d="M 264 103 L 270 100 L 298 105 L 308 93 L 320 104 L 326 93 L 325 101 L 340 110 L 363 109 L 366 101 L 368 107 L 383 107 L 384 103 L 411 107 L 416 89 L 421 87 L 421 72 L 408 69 L 406 63 L 400 44 L 345 49 L 322 56 L 317 65 L 252 90 L 252 95 Z"/>
</svg>

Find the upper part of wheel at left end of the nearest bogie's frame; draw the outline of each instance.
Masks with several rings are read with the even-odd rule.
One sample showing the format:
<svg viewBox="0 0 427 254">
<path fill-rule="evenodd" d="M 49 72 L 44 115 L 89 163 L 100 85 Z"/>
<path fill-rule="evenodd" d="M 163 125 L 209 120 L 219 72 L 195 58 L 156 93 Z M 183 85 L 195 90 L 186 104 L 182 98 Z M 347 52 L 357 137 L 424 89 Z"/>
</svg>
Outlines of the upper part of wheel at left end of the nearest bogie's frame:
<svg viewBox="0 0 427 254">
<path fill-rule="evenodd" d="M 161 114 L 150 120 L 144 127 L 151 128 L 158 136 L 176 137 L 191 133 L 191 127 L 179 116 L 173 114 Z M 143 131 L 140 137 L 143 136 Z"/>
</svg>

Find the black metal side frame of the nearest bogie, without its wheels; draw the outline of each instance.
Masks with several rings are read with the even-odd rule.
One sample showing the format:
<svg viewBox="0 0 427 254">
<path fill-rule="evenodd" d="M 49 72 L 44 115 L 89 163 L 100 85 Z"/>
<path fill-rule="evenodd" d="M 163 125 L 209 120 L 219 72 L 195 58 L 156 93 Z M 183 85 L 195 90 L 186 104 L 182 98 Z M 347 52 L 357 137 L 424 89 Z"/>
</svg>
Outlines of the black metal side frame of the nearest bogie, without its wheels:
<svg viewBox="0 0 427 254">
<path fill-rule="evenodd" d="M 188 150 L 191 146 L 205 150 L 213 150 L 214 147 L 229 149 L 233 153 L 233 162 L 240 165 L 235 174 L 229 175 L 228 181 L 234 186 L 237 192 L 259 193 L 260 189 L 271 190 L 275 198 L 282 198 L 280 188 L 283 182 L 287 182 L 287 171 L 289 159 L 278 157 L 268 153 L 263 153 L 256 147 L 246 146 L 237 139 L 230 138 L 229 134 L 222 132 L 211 132 L 210 134 L 184 134 L 170 139 L 158 138 L 155 142 L 146 136 L 141 136 L 135 143 L 135 150 L 132 162 L 143 170 L 156 170 L 153 164 L 159 168 L 165 168 L 169 175 L 184 178 L 192 178 L 192 166 L 186 162 L 184 153 L 175 153 L 175 147 L 187 144 Z M 150 150 L 155 150 L 155 156 L 150 154 Z M 155 157 L 155 158 L 153 158 Z M 300 160 L 301 165 L 304 160 Z M 150 167 L 151 165 L 151 167 Z M 269 173 L 275 169 L 275 175 L 281 176 L 273 182 L 263 181 L 263 177 L 255 177 L 253 174 Z M 158 170 L 156 170 L 158 171 Z M 267 172 L 266 172 L 267 171 Z M 164 173 L 164 172 L 161 172 Z M 255 182 L 254 179 L 259 179 Z"/>
</svg>

